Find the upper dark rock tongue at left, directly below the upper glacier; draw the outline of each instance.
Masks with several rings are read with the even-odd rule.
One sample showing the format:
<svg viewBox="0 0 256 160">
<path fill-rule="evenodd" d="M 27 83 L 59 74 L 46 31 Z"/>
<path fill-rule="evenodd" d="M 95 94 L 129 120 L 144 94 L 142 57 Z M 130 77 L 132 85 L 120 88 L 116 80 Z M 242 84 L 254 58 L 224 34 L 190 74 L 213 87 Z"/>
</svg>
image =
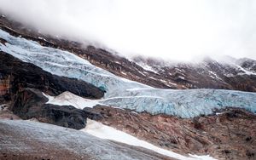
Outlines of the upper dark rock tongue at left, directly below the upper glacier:
<svg viewBox="0 0 256 160">
<path fill-rule="evenodd" d="M 74 78 L 59 77 L 30 63 L 22 62 L 10 54 L 0 52 L 0 95 L 3 100 L 23 88 L 39 89 L 56 95 L 69 91 L 90 99 L 102 98 L 104 92 L 90 83 Z"/>
</svg>

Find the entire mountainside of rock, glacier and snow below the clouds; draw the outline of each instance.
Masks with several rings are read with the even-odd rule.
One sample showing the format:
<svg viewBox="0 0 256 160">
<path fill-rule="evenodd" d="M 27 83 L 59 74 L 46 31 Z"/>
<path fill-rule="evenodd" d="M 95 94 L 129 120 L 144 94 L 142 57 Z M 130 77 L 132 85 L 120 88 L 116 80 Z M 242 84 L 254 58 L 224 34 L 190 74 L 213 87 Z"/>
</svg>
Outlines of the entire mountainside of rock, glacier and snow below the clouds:
<svg viewBox="0 0 256 160">
<path fill-rule="evenodd" d="M 28 28 L 0 18 L 1 159 L 255 158 L 255 60 L 128 60 Z"/>
</svg>

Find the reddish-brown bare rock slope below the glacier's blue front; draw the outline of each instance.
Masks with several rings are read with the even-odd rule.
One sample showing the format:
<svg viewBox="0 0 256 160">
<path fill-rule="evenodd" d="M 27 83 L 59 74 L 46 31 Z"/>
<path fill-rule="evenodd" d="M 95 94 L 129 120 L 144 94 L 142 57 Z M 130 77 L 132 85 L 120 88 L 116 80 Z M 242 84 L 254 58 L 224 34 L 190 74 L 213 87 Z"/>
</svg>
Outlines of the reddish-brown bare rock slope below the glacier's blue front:
<svg viewBox="0 0 256 160">
<path fill-rule="evenodd" d="M 219 159 L 255 159 L 256 116 L 239 109 L 183 119 L 133 113 L 109 106 L 90 109 L 100 122 L 172 151 L 210 154 Z"/>
</svg>

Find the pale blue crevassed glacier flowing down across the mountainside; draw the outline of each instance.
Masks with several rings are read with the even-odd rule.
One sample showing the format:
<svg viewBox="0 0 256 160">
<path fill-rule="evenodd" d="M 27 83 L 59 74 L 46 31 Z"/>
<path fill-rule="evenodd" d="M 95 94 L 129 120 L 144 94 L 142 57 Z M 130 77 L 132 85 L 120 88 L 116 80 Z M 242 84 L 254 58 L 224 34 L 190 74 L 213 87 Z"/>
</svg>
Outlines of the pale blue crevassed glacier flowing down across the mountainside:
<svg viewBox="0 0 256 160">
<path fill-rule="evenodd" d="M 70 52 L 44 47 L 3 30 L 0 30 L 0 37 L 7 41 L 0 43 L 0 51 L 52 74 L 78 78 L 104 89 L 106 94 L 100 100 L 103 105 L 183 118 L 209 115 L 215 109 L 226 107 L 239 107 L 256 113 L 256 93 L 224 89 L 154 89 L 117 77 Z"/>
</svg>

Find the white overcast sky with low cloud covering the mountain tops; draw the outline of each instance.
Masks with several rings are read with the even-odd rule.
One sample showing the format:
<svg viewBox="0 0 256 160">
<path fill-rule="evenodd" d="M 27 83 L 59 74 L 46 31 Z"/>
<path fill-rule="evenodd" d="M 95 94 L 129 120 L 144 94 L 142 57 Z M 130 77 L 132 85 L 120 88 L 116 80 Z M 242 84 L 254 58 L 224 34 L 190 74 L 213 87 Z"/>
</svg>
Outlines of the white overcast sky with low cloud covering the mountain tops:
<svg viewBox="0 0 256 160">
<path fill-rule="evenodd" d="M 0 10 L 40 31 L 126 56 L 256 60 L 254 0 L 0 0 Z"/>
</svg>

